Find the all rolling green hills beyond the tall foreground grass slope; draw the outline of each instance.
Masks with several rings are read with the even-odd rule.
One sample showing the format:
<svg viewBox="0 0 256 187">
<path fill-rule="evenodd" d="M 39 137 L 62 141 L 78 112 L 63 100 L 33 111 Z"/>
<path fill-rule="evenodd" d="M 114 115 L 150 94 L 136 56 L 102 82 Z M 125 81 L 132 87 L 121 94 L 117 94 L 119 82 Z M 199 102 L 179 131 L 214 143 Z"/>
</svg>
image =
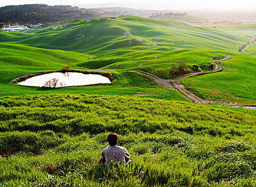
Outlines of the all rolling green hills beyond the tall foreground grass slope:
<svg viewBox="0 0 256 187">
<path fill-rule="evenodd" d="M 63 27 L 59 28 L 61 25 Z M 253 28 L 250 27 L 250 29 Z M 222 80 L 218 79 L 217 74 L 209 74 L 199 76 L 199 78 L 198 76 L 191 77 L 193 82 L 190 81 L 190 78 L 185 79 L 183 83 L 192 92 L 205 99 L 255 103 L 253 79 L 255 58 L 250 57 L 250 65 L 236 65 L 239 61 L 245 62 L 247 59 L 246 55 L 236 53 L 238 46 L 250 39 L 245 35 L 239 36 L 227 32 L 198 28 L 180 22 L 158 21 L 124 15 L 117 19 L 77 19 L 59 24 L 49 24 L 47 27 L 37 28 L 35 33 L 31 34 L 0 32 L 0 39 L 4 43 L 19 43 L 37 47 L 26 48 L 24 45 L 17 45 L 20 49 L 13 52 L 12 48 L 16 45 L 2 43 L 2 62 L 0 65 L 4 77 L 2 88 L 0 88 L 2 96 L 23 94 L 26 90 L 29 90 L 29 93 L 39 93 L 42 90 L 45 93 L 52 92 L 13 85 L 10 84 L 10 81 L 25 74 L 59 70 L 63 65 L 69 64 L 76 69 L 100 68 L 116 71 L 114 74 L 118 77 L 119 82 L 113 83 L 115 89 L 112 85 L 101 85 L 101 87 L 104 87 L 104 89 L 101 89 L 102 94 L 141 95 L 184 100 L 185 98 L 177 91 L 162 88 L 148 77 L 126 71 L 140 69 L 156 74 L 163 79 L 170 79 L 174 77 L 169 74 L 171 67 L 180 61 L 184 61 L 189 66 L 196 64 L 204 67 L 207 64 L 213 64 L 211 57 L 231 54 L 234 57 L 232 59 L 234 63 L 229 64 L 231 60 L 224 61 L 225 72 L 222 72 L 224 76 Z M 10 48 L 9 51 L 8 48 Z M 39 48 L 46 48 L 47 50 Z M 23 51 L 28 52 L 24 53 Z M 70 51 L 76 52 L 72 53 Z M 33 58 L 37 53 L 40 53 L 38 58 Z M 54 57 L 57 57 L 57 59 Z M 225 67 L 226 63 L 228 63 L 227 67 Z M 202 71 L 206 71 L 206 69 L 202 68 Z M 243 77 L 244 81 L 239 83 L 240 89 L 236 89 L 237 79 L 232 77 L 234 72 L 229 73 L 227 69 L 236 69 L 237 76 Z M 243 73 L 244 69 L 248 73 Z M 205 77 L 209 77 L 207 82 L 204 82 L 207 80 Z M 136 80 L 137 78 L 140 81 Z M 136 83 L 132 83 L 133 81 L 126 83 L 129 79 Z M 203 79 L 204 83 L 197 82 L 199 79 Z M 147 83 L 142 83 L 141 80 L 146 80 Z M 229 89 L 226 89 L 224 85 L 229 84 Z M 131 88 L 129 88 L 130 85 Z M 247 85 L 252 86 L 247 89 Z M 12 89 L 8 89 L 9 87 Z M 119 87 L 122 87 L 122 89 L 119 89 Z M 143 87 L 146 87 L 146 89 L 143 89 Z M 164 91 L 159 91 L 159 88 Z M 74 93 L 97 93 L 94 86 L 86 87 L 86 89 L 83 87 L 77 87 L 76 89 L 61 88 L 58 89 L 57 93 L 66 93 L 70 90 L 74 90 Z M 242 93 L 246 93 L 246 96 Z"/>
</svg>

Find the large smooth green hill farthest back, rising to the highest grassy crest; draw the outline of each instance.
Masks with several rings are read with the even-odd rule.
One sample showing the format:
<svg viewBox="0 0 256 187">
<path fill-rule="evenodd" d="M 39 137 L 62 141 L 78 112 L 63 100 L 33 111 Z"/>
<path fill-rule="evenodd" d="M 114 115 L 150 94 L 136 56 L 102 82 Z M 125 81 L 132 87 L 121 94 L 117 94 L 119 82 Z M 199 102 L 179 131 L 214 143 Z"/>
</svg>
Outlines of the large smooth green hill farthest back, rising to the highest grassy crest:
<svg viewBox="0 0 256 187">
<path fill-rule="evenodd" d="M 39 48 L 87 53 L 128 49 L 134 46 L 144 49 L 168 46 L 236 51 L 241 43 L 247 42 L 244 36 L 193 27 L 180 22 L 127 15 L 117 19 L 78 19 L 63 28 L 42 30 L 34 34 L 0 32 L 0 40 Z"/>
</svg>

